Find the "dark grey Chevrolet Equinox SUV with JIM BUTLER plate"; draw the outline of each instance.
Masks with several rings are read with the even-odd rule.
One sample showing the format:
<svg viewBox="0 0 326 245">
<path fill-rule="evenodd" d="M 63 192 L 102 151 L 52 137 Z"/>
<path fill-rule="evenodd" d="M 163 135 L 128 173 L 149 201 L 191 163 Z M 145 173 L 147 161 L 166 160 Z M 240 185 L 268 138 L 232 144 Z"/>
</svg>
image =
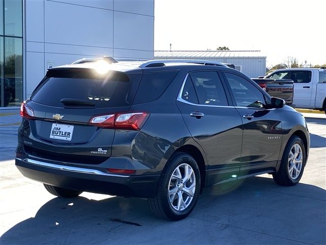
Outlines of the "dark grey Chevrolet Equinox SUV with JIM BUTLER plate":
<svg viewBox="0 0 326 245">
<path fill-rule="evenodd" d="M 51 68 L 21 106 L 16 166 L 58 197 L 147 198 L 179 220 L 205 186 L 268 173 L 297 184 L 305 118 L 250 78 L 208 61 Z"/>
</svg>

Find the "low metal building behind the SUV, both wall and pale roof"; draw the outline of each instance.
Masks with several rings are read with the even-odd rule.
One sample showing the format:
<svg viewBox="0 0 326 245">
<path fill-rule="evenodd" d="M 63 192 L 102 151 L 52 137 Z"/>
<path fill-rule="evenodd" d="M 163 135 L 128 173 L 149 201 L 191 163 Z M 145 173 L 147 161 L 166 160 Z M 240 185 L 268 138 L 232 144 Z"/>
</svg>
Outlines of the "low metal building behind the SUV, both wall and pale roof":
<svg viewBox="0 0 326 245">
<path fill-rule="evenodd" d="M 155 59 L 209 60 L 234 64 L 250 78 L 265 76 L 266 56 L 260 51 L 155 51 Z"/>
</svg>

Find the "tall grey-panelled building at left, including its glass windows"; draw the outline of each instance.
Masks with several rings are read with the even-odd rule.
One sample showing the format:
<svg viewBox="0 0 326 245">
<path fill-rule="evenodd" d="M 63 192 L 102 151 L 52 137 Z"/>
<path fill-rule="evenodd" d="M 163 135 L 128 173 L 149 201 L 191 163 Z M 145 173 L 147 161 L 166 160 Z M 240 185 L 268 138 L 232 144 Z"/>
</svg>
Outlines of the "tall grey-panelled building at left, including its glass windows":
<svg viewBox="0 0 326 245">
<path fill-rule="evenodd" d="M 153 49 L 154 0 L 0 0 L 0 107 L 20 106 L 49 67 Z"/>
</svg>

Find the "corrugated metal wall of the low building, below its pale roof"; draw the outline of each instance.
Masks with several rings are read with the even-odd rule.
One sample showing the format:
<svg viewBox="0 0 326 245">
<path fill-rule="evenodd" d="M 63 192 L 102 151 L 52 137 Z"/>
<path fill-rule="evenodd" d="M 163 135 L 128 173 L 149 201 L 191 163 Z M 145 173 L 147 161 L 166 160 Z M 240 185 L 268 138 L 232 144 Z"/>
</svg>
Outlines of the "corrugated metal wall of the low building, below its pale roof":
<svg viewBox="0 0 326 245">
<path fill-rule="evenodd" d="M 223 63 L 241 65 L 241 72 L 250 78 L 258 78 L 266 74 L 266 58 L 239 57 L 239 58 L 210 58 L 210 57 L 155 57 L 155 59 L 191 59 L 210 60 Z"/>
</svg>

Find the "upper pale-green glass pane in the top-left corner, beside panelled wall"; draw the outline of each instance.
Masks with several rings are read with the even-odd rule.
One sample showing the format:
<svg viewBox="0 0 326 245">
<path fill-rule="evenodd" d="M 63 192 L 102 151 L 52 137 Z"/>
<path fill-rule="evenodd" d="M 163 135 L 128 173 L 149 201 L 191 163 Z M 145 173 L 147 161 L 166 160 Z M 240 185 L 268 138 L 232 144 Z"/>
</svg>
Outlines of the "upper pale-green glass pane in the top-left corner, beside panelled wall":
<svg viewBox="0 0 326 245">
<path fill-rule="evenodd" d="M 5 36 L 22 37 L 22 1 L 5 0 Z"/>
</svg>

